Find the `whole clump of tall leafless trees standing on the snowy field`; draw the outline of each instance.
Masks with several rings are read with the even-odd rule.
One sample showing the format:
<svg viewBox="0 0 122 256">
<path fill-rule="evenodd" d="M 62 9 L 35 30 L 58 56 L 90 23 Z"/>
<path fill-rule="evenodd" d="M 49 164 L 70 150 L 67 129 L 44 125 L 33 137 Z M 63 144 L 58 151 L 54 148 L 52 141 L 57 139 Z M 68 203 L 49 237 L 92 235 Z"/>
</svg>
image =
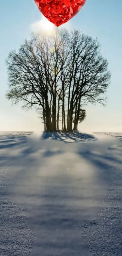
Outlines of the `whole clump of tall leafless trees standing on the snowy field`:
<svg viewBox="0 0 122 256">
<path fill-rule="evenodd" d="M 110 83 L 108 63 L 100 53 L 97 39 L 77 29 L 68 33 L 56 29 L 51 36 L 31 34 L 30 40 L 11 51 L 6 59 L 9 90 L 6 97 L 13 104 L 41 113 L 44 130 L 62 128 L 72 131 L 81 119 L 83 103 L 105 104 Z M 67 121 L 67 124 L 66 124 Z"/>
</svg>

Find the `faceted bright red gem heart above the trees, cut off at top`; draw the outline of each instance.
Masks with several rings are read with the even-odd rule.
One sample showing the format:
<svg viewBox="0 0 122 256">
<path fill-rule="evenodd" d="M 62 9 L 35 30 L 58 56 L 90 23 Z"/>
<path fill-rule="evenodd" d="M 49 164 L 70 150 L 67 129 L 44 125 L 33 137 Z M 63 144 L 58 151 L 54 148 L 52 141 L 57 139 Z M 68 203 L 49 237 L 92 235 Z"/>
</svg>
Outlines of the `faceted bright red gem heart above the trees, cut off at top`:
<svg viewBox="0 0 122 256">
<path fill-rule="evenodd" d="M 86 0 L 34 0 L 40 12 L 59 27 L 73 18 Z"/>
</svg>

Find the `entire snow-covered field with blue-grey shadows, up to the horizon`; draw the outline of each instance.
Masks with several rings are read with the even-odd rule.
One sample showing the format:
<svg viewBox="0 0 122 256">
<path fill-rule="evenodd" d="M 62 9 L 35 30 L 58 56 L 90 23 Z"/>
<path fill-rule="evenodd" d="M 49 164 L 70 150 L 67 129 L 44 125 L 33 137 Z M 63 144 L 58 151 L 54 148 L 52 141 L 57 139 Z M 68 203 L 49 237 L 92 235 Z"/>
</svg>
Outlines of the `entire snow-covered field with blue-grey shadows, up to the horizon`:
<svg viewBox="0 0 122 256">
<path fill-rule="evenodd" d="M 122 134 L 0 133 L 0 256 L 122 256 Z"/>
</svg>

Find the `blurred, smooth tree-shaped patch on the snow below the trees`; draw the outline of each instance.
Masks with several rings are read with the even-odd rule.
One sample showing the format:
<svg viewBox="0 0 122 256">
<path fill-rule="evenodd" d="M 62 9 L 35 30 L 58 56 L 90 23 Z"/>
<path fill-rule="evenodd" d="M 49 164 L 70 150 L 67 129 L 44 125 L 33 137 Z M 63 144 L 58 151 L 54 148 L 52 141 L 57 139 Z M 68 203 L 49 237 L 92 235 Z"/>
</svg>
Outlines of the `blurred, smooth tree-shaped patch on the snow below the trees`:
<svg viewBox="0 0 122 256">
<path fill-rule="evenodd" d="M 79 142 L 79 137 L 82 143 L 70 146 L 68 139 Z M 96 140 L 89 134 L 44 133 L 36 142 L 30 136 L 19 153 L 10 156 L 14 175 L 8 194 L 37 234 L 32 256 L 89 255 L 77 227 L 100 211 L 110 173 Z"/>
</svg>

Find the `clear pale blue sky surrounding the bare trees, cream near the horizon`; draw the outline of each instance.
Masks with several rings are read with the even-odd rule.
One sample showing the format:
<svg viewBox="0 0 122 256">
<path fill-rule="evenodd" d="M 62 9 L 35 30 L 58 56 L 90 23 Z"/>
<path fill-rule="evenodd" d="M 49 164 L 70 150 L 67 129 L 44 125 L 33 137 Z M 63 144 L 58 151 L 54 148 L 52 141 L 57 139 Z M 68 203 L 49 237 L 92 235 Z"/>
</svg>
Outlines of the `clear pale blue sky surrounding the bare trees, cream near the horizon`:
<svg viewBox="0 0 122 256">
<path fill-rule="evenodd" d="M 0 1 L 0 131 L 33 131 L 43 127 L 35 110 L 26 112 L 21 104 L 12 106 L 5 98 L 8 89 L 5 59 L 12 49 L 18 50 L 36 26 L 44 25 L 45 20 L 38 23 L 42 19 L 34 0 Z M 80 28 L 83 33 L 97 37 L 112 74 L 107 106 L 89 104 L 80 130 L 122 132 L 122 0 L 86 0 L 65 27 Z"/>
</svg>

